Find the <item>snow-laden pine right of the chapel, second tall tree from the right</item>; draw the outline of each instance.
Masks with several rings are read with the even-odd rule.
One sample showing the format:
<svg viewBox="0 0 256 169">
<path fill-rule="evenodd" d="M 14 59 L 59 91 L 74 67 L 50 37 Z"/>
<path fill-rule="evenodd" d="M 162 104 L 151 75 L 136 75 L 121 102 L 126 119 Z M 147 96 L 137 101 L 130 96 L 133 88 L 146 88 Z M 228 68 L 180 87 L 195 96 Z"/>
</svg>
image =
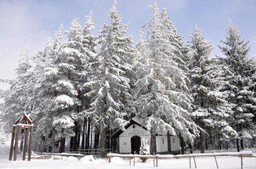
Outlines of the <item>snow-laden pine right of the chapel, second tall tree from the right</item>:
<svg viewBox="0 0 256 169">
<path fill-rule="evenodd" d="M 191 56 L 189 59 L 189 75 L 191 80 L 191 96 L 196 124 L 207 133 L 216 132 L 222 138 L 236 136 L 236 132 L 225 121 L 232 113 L 225 100 L 227 95 L 218 91 L 225 84 L 227 69 L 218 58 L 210 58 L 212 45 L 202 35 L 203 31 L 195 26 L 191 37 Z M 227 71 L 226 71 L 227 72 Z M 201 153 L 205 148 L 205 133 L 200 132 Z"/>
</svg>

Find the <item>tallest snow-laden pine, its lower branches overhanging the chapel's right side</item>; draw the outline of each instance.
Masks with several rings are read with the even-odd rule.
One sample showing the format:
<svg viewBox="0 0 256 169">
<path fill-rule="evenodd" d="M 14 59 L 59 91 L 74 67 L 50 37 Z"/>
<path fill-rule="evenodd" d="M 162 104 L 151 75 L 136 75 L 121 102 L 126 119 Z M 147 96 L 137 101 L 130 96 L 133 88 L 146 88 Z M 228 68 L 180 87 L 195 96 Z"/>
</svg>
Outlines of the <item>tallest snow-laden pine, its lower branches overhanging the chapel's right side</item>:
<svg viewBox="0 0 256 169">
<path fill-rule="evenodd" d="M 178 48 L 172 44 L 172 28 L 165 25 L 160 17 L 157 3 L 150 6 L 151 20 L 143 27 L 147 30 L 145 49 L 138 73 L 136 101 L 137 116 L 144 119 L 151 133 L 150 153 L 154 153 L 155 135 L 181 135 L 185 141 L 193 143 L 198 126 L 192 121 L 192 98 L 188 95 L 183 58 L 176 53 Z M 141 50 L 140 50 L 141 51 Z M 180 53 L 179 53 L 180 54 Z M 177 62 L 180 60 L 180 62 Z"/>
</svg>

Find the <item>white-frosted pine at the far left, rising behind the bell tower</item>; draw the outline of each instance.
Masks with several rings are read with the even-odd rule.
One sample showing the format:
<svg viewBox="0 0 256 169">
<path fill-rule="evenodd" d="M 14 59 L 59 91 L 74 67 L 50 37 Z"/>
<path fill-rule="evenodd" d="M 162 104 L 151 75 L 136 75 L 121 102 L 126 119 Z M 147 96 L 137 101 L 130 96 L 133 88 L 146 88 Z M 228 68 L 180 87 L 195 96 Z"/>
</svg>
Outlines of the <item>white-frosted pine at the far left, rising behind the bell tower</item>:
<svg viewBox="0 0 256 169">
<path fill-rule="evenodd" d="M 11 131 L 9 127 L 12 127 L 15 120 L 24 113 L 25 108 L 27 114 L 30 114 L 28 107 L 31 107 L 29 100 L 32 87 L 29 82 L 31 76 L 29 70 L 32 65 L 29 62 L 29 48 L 26 47 L 26 50 L 19 55 L 22 59 L 19 61 L 18 68 L 15 69 L 17 77 L 15 79 L 0 79 L 0 82 L 10 85 L 8 90 L 0 90 L 0 98 L 4 100 L 0 104 L 0 112 L 2 112 L 3 118 L 7 120 L 7 130 L 9 131 Z"/>
</svg>

